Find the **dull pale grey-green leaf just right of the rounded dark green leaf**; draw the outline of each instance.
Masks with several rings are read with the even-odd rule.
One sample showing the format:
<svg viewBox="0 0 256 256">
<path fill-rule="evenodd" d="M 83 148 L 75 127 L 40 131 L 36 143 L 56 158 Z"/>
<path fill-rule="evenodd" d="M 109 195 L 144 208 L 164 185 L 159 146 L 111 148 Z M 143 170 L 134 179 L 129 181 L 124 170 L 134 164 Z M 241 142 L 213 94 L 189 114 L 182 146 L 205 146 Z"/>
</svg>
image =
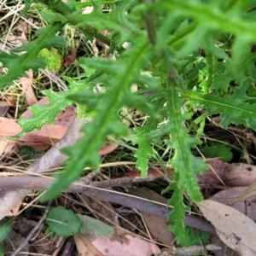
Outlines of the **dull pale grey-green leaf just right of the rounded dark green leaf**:
<svg viewBox="0 0 256 256">
<path fill-rule="evenodd" d="M 96 218 L 91 218 L 86 215 L 77 214 L 82 222 L 82 227 L 80 229 L 81 234 L 89 234 L 95 236 L 105 236 L 111 238 L 114 234 L 114 228 L 108 224 L 103 223 L 101 220 Z"/>
</svg>

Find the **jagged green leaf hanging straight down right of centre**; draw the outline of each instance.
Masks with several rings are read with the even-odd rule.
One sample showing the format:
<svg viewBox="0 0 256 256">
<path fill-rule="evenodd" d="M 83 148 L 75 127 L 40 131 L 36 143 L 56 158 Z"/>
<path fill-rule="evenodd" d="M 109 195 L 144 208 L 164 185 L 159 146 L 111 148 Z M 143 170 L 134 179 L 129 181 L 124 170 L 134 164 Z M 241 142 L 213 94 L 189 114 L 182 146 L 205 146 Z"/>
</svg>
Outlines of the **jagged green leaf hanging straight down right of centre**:
<svg viewBox="0 0 256 256">
<path fill-rule="evenodd" d="M 201 142 L 199 138 L 189 137 L 188 131 L 184 128 L 186 116 L 181 113 L 183 98 L 178 96 L 178 91 L 173 85 L 171 85 L 167 100 L 170 115 L 168 125 L 173 135 L 169 144 L 172 148 L 175 148 L 174 156 L 170 163 L 174 168 L 174 172 L 179 173 L 177 188 L 183 191 L 187 190 L 193 201 L 201 201 L 201 191 L 195 174 L 207 169 L 207 165 L 202 160 L 195 158 L 190 151 L 191 147 Z"/>
</svg>

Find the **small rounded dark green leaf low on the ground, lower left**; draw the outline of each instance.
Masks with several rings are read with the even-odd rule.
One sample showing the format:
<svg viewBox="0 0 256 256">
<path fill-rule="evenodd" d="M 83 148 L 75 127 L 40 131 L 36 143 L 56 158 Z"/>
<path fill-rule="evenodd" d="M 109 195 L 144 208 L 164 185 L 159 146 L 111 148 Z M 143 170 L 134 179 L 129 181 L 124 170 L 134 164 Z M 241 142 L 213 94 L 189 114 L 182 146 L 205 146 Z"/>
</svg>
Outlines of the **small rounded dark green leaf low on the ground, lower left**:
<svg viewBox="0 0 256 256">
<path fill-rule="evenodd" d="M 63 237 L 79 234 L 82 227 L 79 217 L 64 207 L 51 208 L 45 222 L 57 236 Z"/>
</svg>

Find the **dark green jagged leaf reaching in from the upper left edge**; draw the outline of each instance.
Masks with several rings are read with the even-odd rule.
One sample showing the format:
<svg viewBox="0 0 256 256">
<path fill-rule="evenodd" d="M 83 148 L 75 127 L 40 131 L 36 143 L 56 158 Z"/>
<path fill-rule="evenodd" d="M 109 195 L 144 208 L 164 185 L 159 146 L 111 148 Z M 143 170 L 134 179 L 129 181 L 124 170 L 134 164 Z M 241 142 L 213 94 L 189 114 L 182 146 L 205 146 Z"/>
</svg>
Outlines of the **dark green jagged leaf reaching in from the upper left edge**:
<svg viewBox="0 0 256 256">
<path fill-rule="evenodd" d="M 21 50 L 26 51 L 23 55 L 9 55 L 0 50 L 0 60 L 3 63 L 3 67 L 9 69 L 7 74 L 0 77 L 0 90 L 6 85 L 13 84 L 15 79 L 26 77 L 27 70 L 31 68 L 37 70 L 39 67 L 45 67 L 44 58 L 38 58 L 38 53 L 44 48 L 64 45 L 62 39 L 55 38 L 55 32 L 60 29 L 60 23 L 47 26 L 39 38 L 32 43 L 23 44 L 16 49 L 18 52 Z"/>
</svg>

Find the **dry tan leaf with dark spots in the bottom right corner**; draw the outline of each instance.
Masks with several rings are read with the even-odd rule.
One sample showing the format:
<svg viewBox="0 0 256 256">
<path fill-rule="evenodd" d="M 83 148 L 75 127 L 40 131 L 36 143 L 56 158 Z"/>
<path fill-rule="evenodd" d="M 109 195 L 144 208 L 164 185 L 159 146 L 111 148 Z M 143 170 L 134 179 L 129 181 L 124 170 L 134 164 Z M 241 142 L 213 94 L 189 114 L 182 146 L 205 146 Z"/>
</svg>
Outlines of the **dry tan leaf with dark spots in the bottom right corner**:
<svg viewBox="0 0 256 256">
<path fill-rule="evenodd" d="M 256 255 L 256 240 L 253 239 L 256 237 L 256 224 L 252 219 L 218 201 L 206 200 L 197 206 L 228 247 L 241 256 Z"/>
</svg>

